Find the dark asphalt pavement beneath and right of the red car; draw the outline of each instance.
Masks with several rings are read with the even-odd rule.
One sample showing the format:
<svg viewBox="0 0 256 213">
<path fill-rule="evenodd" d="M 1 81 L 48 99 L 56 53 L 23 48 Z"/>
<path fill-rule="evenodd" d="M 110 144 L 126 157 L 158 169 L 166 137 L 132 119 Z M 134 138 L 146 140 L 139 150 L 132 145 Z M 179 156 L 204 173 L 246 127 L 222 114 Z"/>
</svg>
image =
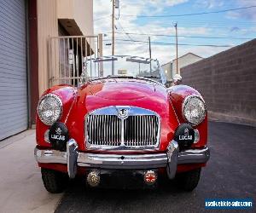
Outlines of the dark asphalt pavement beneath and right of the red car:
<svg viewBox="0 0 256 213">
<path fill-rule="evenodd" d="M 86 188 L 79 179 L 70 182 L 55 212 L 209 212 L 204 200 L 215 198 L 252 198 L 255 212 L 256 128 L 209 122 L 208 146 L 211 158 L 192 193 L 174 181 L 154 190 L 122 190 Z"/>
</svg>

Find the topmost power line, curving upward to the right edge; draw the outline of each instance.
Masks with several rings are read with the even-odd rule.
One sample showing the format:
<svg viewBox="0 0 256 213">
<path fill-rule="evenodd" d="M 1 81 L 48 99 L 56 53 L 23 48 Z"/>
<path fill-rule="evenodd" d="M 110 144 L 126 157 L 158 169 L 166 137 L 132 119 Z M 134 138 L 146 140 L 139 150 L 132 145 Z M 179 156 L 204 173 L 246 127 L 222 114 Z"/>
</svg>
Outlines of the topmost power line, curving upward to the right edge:
<svg viewBox="0 0 256 213">
<path fill-rule="evenodd" d="M 194 14 L 166 14 L 166 15 L 146 15 L 146 14 L 122 14 L 125 17 L 137 17 L 137 18 L 167 18 L 167 17 L 180 17 L 180 16 L 190 16 L 190 15 L 201 15 L 201 14 L 218 14 L 218 13 L 225 13 L 229 11 L 236 11 L 241 9 L 252 9 L 256 8 L 256 5 L 247 6 L 243 8 L 236 8 L 236 9 L 223 9 L 211 12 L 201 12 L 201 13 L 194 13 Z"/>
</svg>

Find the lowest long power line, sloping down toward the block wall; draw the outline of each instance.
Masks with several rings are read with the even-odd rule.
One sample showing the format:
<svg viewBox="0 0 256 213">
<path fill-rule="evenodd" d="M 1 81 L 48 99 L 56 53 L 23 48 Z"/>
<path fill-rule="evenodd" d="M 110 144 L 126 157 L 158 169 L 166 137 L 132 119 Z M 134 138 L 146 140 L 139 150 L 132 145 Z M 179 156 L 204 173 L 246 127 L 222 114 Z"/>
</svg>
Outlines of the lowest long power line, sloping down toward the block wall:
<svg viewBox="0 0 256 213">
<path fill-rule="evenodd" d="M 148 41 L 139 41 L 139 40 L 128 40 L 128 39 L 116 39 L 117 41 L 125 43 L 148 43 Z M 104 40 L 105 42 L 110 41 L 108 39 Z M 151 42 L 159 45 L 176 45 L 176 43 L 164 43 L 164 42 Z M 189 44 L 189 43 L 178 43 L 179 46 L 196 46 L 196 47 L 218 47 L 218 48 L 230 48 L 232 45 L 215 45 L 215 44 Z"/>
</svg>

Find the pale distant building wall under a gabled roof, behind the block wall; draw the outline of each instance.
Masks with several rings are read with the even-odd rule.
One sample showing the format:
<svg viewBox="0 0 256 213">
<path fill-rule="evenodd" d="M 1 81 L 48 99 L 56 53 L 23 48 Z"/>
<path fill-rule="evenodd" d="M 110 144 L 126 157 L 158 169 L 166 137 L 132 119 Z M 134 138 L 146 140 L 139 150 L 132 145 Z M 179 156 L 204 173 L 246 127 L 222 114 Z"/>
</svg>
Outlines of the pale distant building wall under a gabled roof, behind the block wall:
<svg viewBox="0 0 256 213">
<path fill-rule="evenodd" d="M 179 57 L 177 60 L 173 60 L 172 61 L 172 75 L 175 75 L 177 73 L 180 74 L 180 69 L 182 67 L 188 66 L 189 64 L 193 64 L 201 59 L 202 58 L 197 55 L 188 54 L 188 55 L 183 55 L 183 56 Z"/>
</svg>

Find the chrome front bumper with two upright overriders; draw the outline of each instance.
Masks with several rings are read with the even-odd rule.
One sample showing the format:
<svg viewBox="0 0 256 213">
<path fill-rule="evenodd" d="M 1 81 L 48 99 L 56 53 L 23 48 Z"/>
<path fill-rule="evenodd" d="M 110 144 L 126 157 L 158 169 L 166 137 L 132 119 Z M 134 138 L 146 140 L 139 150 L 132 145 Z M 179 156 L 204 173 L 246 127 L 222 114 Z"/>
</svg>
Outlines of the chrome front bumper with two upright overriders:
<svg viewBox="0 0 256 213">
<path fill-rule="evenodd" d="M 67 152 L 35 148 L 34 155 L 38 163 L 67 164 L 70 178 L 74 178 L 77 167 L 96 169 L 157 169 L 166 167 L 170 179 L 174 178 L 177 164 L 206 163 L 210 158 L 208 147 L 189 149 L 179 152 L 177 141 L 170 142 L 166 153 L 148 154 L 103 154 L 79 153 L 77 142 L 73 139 L 67 142 Z"/>
</svg>

